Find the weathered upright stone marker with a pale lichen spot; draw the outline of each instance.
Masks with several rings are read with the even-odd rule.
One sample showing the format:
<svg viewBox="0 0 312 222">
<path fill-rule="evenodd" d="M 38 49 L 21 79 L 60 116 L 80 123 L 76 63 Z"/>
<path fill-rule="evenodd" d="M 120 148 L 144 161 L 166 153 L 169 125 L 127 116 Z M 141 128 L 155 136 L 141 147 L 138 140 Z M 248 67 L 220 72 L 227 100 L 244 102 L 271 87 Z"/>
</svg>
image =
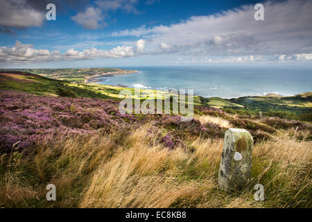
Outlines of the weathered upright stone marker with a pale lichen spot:
<svg viewBox="0 0 312 222">
<path fill-rule="evenodd" d="M 229 128 L 225 132 L 218 184 L 224 191 L 241 189 L 250 178 L 252 135 L 244 129 Z"/>
</svg>

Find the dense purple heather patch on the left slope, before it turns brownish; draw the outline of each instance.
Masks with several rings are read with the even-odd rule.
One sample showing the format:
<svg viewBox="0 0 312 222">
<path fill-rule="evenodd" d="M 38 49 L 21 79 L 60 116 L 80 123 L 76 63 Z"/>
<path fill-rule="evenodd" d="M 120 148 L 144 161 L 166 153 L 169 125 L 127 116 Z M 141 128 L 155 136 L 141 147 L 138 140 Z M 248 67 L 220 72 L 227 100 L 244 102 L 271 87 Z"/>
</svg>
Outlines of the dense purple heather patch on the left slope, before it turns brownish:
<svg viewBox="0 0 312 222">
<path fill-rule="evenodd" d="M 0 150 L 9 151 L 19 142 L 21 149 L 44 139 L 95 133 L 136 121 L 120 114 L 116 101 L 33 96 L 2 91 L 0 94 Z M 128 121 L 124 121 L 127 119 Z"/>
</svg>

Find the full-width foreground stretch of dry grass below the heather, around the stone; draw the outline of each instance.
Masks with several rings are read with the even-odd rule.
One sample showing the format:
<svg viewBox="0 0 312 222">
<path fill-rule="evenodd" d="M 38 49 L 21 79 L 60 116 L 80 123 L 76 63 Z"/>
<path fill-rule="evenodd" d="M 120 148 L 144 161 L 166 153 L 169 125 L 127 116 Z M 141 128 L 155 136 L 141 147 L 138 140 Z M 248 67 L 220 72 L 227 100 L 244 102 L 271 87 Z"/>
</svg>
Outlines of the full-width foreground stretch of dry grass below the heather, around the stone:
<svg viewBox="0 0 312 222">
<path fill-rule="evenodd" d="M 10 171 L 2 157 L 1 205 L 311 207 L 311 142 L 281 132 L 255 145 L 250 182 L 225 194 L 217 186 L 222 139 L 198 137 L 169 150 L 148 128 L 42 144 L 32 157 L 11 158 Z M 49 183 L 57 187 L 57 201 L 45 200 Z M 265 187 L 265 201 L 254 200 L 257 183 Z"/>
</svg>

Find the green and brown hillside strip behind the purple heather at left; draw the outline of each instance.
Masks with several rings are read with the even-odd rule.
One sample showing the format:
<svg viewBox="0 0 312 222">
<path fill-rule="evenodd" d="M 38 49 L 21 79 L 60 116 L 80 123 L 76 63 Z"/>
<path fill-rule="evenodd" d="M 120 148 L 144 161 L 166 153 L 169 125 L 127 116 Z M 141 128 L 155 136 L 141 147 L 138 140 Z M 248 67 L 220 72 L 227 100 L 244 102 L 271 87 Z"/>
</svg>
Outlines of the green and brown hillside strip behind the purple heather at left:
<svg viewBox="0 0 312 222">
<path fill-rule="evenodd" d="M 119 92 L 122 89 L 128 89 L 134 94 L 135 89 L 115 87 L 100 84 L 73 83 L 67 80 L 55 80 L 36 74 L 30 74 L 22 71 L 0 71 L 0 88 L 12 89 L 21 92 L 44 96 L 69 96 L 69 97 L 89 97 L 101 99 L 119 99 Z M 149 94 L 156 93 L 156 90 L 141 89 L 141 92 Z M 172 94 L 166 93 L 166 97 Z M 141 99 L 146 99 L 142 97 Z M 194 105 L 200 105 L 200 97 L 195 96 Z"/>
</svg>

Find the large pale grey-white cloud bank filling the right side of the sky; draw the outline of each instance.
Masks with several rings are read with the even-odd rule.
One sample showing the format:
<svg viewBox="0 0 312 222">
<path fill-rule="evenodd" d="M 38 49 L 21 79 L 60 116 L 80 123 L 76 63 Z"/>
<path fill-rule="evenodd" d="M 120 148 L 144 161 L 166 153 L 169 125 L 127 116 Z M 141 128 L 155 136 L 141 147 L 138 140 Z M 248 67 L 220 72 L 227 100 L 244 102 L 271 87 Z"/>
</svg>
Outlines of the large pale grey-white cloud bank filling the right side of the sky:
<svg viewBox="0 0 312 222">
<path fill-rule="evenodd" d="M 312 51 L 312 1 L 264 3 L 265 20 L 254 19 L 252 5 L 220 14 L 191 17 L 170 26 L 141 26 L 112 33 L 149 40 L 145 53 L 186 56 L 302 54 Z M 164 43 L 170 49 L 164 50 Z M 162 51 L 159 51 L 159 45 Z"/>
</svg>

